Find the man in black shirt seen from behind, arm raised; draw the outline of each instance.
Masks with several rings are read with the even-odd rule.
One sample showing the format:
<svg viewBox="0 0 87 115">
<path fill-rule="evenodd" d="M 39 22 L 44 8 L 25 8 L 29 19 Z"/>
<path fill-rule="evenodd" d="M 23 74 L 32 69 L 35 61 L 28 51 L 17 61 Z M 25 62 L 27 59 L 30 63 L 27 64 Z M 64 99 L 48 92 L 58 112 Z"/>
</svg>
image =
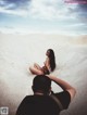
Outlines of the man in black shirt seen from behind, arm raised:
<svg viewBox="0 0 87 115">
<path fill-rule="evenodd" d="M 51 81 L 62 88 L 61 92 L 51 91 Z M 59 115 L 66 110 L 76 93 L 75 88 L 54 76 L 37 75 L 33 80 L 33 95 L 21 102 L 16 115 Z"/>
</svg>

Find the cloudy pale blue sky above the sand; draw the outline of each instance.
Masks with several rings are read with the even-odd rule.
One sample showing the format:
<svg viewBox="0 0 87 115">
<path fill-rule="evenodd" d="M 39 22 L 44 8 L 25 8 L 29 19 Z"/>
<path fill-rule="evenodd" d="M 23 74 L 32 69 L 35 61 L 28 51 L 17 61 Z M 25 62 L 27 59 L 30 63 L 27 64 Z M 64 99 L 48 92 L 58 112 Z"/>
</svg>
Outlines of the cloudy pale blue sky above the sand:
<svg viewBox="0 0 87 115">
<path fill-rule="evenodd" d="M 0 33 L 87 34 L 87 0 L 0 0 Z"/>
</svg>

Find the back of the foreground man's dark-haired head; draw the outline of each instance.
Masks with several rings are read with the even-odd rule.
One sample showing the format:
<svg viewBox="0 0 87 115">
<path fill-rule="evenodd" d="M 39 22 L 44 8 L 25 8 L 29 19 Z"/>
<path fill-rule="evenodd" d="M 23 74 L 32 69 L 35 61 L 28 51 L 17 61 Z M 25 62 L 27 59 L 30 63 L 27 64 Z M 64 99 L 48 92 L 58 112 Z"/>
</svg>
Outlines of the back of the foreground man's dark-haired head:
<svg viewBox="0 0 87 115">
<path fill-rule="evenodd" d="M 33 91 L 48 94 L 51 88 L 51 79 L 45 75 L 37 75 L 33 80 Z"/>
</svg>

